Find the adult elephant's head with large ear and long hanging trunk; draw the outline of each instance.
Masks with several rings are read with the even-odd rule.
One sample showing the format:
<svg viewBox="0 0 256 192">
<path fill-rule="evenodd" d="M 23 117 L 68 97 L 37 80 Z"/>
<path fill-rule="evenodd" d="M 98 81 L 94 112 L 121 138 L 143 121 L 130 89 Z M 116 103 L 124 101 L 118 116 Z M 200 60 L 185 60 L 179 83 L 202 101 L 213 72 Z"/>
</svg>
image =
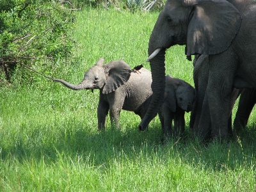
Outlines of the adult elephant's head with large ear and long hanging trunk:
<svg viewBox="0 0 256 192">
<path fill-rule="evenodd" d="M 147 127 L 163 104 L 166 49 L 176 44 L 186 45 L 188 60 L 193 54 L 218 54 L 229 47 L 240 26 L 239 11 L 226 0 L 166 2 L 148 43 L 146 61 L 150 61 L 153 95 L 139 130 Z"/>
</svg>

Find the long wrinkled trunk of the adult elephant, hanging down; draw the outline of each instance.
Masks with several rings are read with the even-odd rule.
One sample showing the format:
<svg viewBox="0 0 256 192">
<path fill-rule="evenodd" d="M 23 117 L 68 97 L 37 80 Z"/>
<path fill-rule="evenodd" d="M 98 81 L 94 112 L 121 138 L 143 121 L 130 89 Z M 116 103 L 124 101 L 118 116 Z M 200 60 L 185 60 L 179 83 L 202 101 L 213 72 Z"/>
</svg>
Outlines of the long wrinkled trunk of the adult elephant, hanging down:
<svg viewBox="0 0 256 192">
<path fill-rule="evenodd" d="M 150 68 L 152 72 L 151 87 L 153 94 L 147 113 L 138 127 L 140 131 L 145 130 L 150 121 L 157 115 L 157 112 L 163 104 L 165 86 L 164 58 L 165 49 L 163 48 L 156 56 L 154 56 L 154 58 L 150 59 Z"/>
</svg>

